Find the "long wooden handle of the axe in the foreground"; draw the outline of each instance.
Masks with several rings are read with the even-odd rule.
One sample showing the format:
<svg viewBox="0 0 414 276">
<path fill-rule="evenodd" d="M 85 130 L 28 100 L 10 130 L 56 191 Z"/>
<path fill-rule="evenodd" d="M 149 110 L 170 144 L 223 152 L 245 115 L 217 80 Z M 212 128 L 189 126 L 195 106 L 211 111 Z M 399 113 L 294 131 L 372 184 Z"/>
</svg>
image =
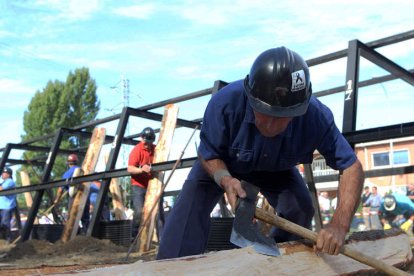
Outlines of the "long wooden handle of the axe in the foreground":
<svg viewBox="0 0 414 276">
<path fill-rule="evenodd" d="M 267 211 L 264 211 L 263 209 L 256 208 L 255 212 L 256 218 L 267 222 L 269 224 L 272 224 L 280 229 L 283 229 L 287 232 L 290 232 L 292 234 L 295 234 L 297 236 L 300 236 L 302 238 L 311 240 L 313 242 L 316 242 L 318 234 L 306 229 L 300 225 L 297 225 L 291 221 L 288 221 L 284 218 L 281 218 L 279 216 L 276 216 L 274 214 L 271 214 Z M 358 262 L 361 262 L 363 264 L 369 265 L 375 269 L 378 269 L 384 273 L 387 273 L 389 275 L 409 275 L 405 271 L 402 271 L 392 265 L 386 264 L 383 261 L 374 259 L 368 255 L 365 255 L 357 250 L 352 249 L 348 245 L 345 245 L 342 247 L 341 253 L 345 256 L 348 256 Z"/>
</svg>

